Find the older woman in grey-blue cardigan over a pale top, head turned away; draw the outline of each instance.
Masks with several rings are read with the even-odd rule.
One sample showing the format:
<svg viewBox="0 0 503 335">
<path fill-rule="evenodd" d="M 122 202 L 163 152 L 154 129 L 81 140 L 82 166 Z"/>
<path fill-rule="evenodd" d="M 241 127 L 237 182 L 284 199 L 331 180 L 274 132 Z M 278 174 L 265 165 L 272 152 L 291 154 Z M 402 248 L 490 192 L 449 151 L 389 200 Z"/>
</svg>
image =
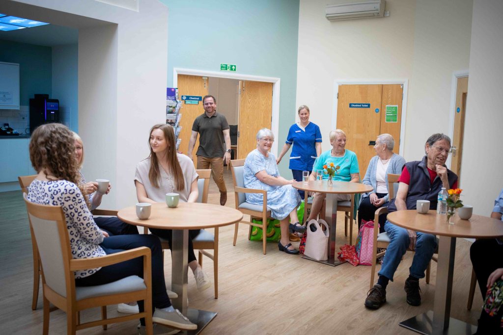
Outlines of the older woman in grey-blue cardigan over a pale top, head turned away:
<svg viewBox="0 0 503 335">
<path fill-rule="evenodd" d="M 381 134 L 376 139 L 374 150 L 377 156 L 370 160 L 367 172 L 362 183 L 373 187 L 369 193 L 362 195 L 358 208 L 358 228 L 362 224 L 362 219 L 368 221 L 374 218 L 377 208 L 386 205 L 389 201 L 388 195 L 388 173 L 400 174 L 405 160 L 402 156 L 394 154 L 393 148 L 395 140 L 389 134 Z M 381 227 L 384 227 L 385 215 L 379 217 L 382 220 Z"/>
</svg>

